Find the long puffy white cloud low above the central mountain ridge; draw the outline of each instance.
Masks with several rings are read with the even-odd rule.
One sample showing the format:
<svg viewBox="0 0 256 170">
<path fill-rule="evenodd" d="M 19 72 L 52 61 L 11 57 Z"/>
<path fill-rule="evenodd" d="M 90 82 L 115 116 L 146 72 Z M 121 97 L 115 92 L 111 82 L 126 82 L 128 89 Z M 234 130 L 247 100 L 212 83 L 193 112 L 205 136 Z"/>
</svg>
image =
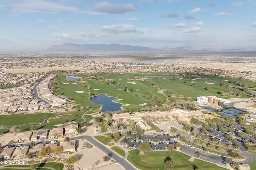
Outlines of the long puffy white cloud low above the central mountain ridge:
<svg viewBox="0 0 256 170">
<path fill-rule="evenodd" d="M 122 24 L 122 25 L 104 25 L 102 30 L 114 34 L 119 33 L 143 33 L 138 31 L 134 25 Z"/>
</svg>

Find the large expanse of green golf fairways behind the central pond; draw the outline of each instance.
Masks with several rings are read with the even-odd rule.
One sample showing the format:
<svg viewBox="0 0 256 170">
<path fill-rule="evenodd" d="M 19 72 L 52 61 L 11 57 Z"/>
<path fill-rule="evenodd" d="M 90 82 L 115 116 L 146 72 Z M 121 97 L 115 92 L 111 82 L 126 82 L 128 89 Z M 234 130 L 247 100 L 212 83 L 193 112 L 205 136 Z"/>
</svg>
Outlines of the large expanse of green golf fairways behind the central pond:
<svg viewBox="0 0 256 170">
<path fill-rule="evenodd" d="M 155 96 L 162 101 L 166 100 L 167 90 L 172 90 L 173 94 L 180 94 L 191 101 L 195 101 L 198 96 L 217 96 L 218 98 L 238 98 L 238 96 L 221 96 L 219 91 L 224 92 L 238 92 L 237 88 L 220 86 L 220 82 L 224 81 L 228 84 L 236 84 L 241 82 L 252 86 L 255 82 L 222 78 L 217 76 L 194 75 L 197 78 L 189 77 L 187 74 L 182 73 L 164 73 L 164 72 L 140 72 L 140 73 L 106 73 L 106 74 L 88 74 L 88 78 L 82 78 L 77 84 L 74 81 L 67 81 L 65 76 L 60 76 L 55 81 L 55 92 L 74 100 L 76 103 L 97 111 L 100 109 L 99 104 L 93 104 L 89 98 L 97 94 L 107 94 L 108 96 L 116 97 L 115 102 L 123 105 L 130 104 L 129 106 L 122 106 L 126 111 L 138 111 L 141 107 L 148 107 L 149 96 Z M 83 76 L 82 74 L 75 76 Z M 206 78 L 206 80 L 204 80 Z M 108 82 L 106 80 L 112 80 Z M 193 82 L 195 82 L 193 84 Z M 68 84 L 67 84 L 68 83 Z M 206 86 L 209 89 L 206 90 Z M 122 87 L 132 90 L 131 92 L 123 91 Z M 158 90 L 163 90 L 164 94 L 159 93 Z M 76 93 L 76 91 L 84 91 L 84 93 Z M 242 93 L 242 98 L 249 96 Z M 182 100 L 182 98 L 179 98 Z M 141 106 L 141 104 L 146 104 Z"/>
</svg>

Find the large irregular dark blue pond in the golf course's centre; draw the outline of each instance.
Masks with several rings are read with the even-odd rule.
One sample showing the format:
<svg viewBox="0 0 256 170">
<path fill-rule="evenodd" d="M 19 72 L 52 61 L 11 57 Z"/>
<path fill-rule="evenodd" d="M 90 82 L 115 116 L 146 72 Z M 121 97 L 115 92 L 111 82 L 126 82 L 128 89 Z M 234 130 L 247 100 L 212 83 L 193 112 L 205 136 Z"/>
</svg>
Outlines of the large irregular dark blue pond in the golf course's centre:
<svg viewBox="0 0 256 170">
<path fill-rule="evenodd" d="M 121 110 L 122 104 L 112 102 L 112 100 L 116 99 L 115 97 L 109 97 L 106 94 L 99 94 L 98 96 L 93 96 L 89 98 L 92 103 L 102 104 L 101 111 L 118 111 Z"/>
</svg>

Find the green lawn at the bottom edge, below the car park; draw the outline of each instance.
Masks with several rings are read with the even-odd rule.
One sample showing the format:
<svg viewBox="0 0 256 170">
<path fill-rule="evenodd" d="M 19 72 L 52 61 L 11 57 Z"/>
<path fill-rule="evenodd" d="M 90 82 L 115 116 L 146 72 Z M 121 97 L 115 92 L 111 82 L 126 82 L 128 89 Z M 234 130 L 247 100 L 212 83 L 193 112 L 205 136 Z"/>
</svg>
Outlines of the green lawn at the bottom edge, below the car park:
<svg viewBox="0 0 256 170">
<path fill-rule="evenodd" d="M 164 170 L 164 159 L 170 156 L 174 163 L 174 170 L 192 170 L 197 166 L 200 170 L 226 170 L 202 160 L 195 159 L 194 162 L 188 161 L 191 157 L 177 151 L 151 151 L 140 155 L 140 150 L 129 151 L 127 159 L 137 168 L 142 170 Z"/>
</svg>

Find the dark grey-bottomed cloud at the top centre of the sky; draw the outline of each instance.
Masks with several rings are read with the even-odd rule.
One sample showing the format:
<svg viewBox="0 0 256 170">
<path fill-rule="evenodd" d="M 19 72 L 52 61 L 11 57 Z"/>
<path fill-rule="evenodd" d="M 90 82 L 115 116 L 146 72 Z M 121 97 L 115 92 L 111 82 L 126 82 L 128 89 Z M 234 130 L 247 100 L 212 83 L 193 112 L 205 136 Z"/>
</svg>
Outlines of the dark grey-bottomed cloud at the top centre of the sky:
<svg viewBox="0 0 256 170">
<path fill-rule="evenodd" d="M 104 14 L 125 14 L 136 11 L 136 8 L 133 4 L 111 4 L 109 2 L 99 2 L 92 6 L 92 11 Z"/>
</svg>

